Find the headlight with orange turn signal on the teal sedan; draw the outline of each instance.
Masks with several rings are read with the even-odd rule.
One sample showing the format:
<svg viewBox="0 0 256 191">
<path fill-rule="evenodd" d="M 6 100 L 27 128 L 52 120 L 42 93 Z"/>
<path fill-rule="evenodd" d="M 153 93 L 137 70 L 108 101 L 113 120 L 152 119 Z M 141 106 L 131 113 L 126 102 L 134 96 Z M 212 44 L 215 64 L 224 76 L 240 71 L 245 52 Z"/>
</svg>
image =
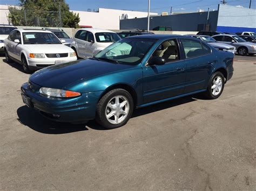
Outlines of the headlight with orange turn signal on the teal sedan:
<svg viewBox="0 0 256 191">
<path fill-rule="evenodd" d="M 63 89 L 54 89 L 54 88 L 45 88 L 42 87 L 39 89 L 39 93 L 51 97 L 77 97 L 81 94 L 76 91 L 69 91 Z"/>
</svg>

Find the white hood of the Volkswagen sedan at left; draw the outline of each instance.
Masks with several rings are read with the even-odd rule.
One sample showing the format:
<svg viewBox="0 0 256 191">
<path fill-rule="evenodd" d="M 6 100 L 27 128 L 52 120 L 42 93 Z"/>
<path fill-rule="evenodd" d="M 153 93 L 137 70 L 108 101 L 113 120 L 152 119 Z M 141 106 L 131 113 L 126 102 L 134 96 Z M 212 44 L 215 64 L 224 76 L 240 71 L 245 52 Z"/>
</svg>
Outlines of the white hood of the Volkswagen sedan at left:
<svg viewBox="0 0 256 191">
<path fill-rule="evenodd" d="M 65 46 L 63 44 L 57 45 L 50 45 L 50 44 L 43 44 L 43 45 L 24 45 L 25 47 L 29 48 L 31 53 L 44 53 L 44 54 L 56 54 L 56 53 L 69 53 L 74 52 L 72 48 Z"/>
</svg>

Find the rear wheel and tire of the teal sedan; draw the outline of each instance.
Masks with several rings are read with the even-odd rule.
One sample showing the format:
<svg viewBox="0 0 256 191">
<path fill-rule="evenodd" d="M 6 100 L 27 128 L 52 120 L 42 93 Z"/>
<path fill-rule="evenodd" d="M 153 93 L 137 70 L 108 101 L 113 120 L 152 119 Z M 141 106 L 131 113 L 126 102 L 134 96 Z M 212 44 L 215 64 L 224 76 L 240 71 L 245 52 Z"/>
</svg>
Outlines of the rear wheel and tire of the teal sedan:
<svg viewBox="0 0 256 191">
<path fill-rule="evenodd" d="M 223 92 L 224 85 L 225 85 L 225 78 L 223 73 L 215 72 L 210 77 L 205 96 L 210 100 L 217 99 Z"/>
</svg>

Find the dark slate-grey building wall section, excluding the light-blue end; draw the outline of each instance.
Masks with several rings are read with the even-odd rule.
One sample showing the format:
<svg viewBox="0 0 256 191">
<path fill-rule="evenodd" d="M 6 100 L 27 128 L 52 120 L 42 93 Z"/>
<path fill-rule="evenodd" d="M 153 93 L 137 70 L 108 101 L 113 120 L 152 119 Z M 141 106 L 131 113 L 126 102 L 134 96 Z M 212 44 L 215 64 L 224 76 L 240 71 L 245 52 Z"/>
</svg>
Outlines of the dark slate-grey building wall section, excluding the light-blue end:
<svg viewBox="0 0 256 191">
<path fill-rule="evenodd" d="M 210 11 L 208 23 L 211 30 L 217 28 L 218 11 Z M 183 13 L 169 16 L 156 16 L 150 18 L 150 30 L 157 26 L 171 27 L 173 31 L 197 31 L 198 24 L 206 24 L 207 12 Z M 120 29 L 147 29 L 147 18 L 120 20 Z"/>
</svg>

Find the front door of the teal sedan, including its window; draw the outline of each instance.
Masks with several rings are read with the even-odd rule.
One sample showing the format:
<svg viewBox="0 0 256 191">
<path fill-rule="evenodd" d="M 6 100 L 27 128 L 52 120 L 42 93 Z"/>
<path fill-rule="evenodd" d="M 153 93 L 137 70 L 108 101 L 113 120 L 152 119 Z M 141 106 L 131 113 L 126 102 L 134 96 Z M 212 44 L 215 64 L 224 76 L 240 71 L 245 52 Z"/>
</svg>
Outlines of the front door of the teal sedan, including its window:
<svg viewBox="0 0 256 191">
<path fill-rule="evenodd" d="M 164 65 L 143 66 L 144 103 L 183 94 L 186 61 L 180 59 L 177 40 L 164 41 L 152 56 L 160 56 L 165 59 L 166 63 Z"/>
</svg>

